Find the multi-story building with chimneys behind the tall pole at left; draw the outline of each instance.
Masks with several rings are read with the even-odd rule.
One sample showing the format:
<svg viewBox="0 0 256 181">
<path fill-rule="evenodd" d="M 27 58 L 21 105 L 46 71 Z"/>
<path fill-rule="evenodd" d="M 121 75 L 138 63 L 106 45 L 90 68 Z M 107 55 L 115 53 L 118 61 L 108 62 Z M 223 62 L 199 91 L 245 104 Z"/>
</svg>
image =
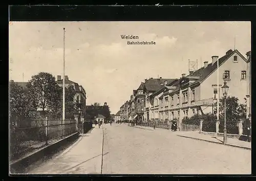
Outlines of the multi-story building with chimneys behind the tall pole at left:
<svg viewBox="0 0 256 181">
<path fill-rule="evenodd" d="M 61 76 L 57 76 L 56 83 L 62 87 L 63 79 L 61 79 Z M 65 76 L 65 87 L 69 87 L 71 85 L 74 87 L 74 89 L 76 91 L 74 101 L 78 104 L 79 111 L 81 112 L 81 115 L 85 114 L 85 112 L 86 112 L 86 90 L 84 90 L 84 88 L 81 85 L 79 85 L 78 83 L 69 80 L 68 76 Z"/>
</svg>

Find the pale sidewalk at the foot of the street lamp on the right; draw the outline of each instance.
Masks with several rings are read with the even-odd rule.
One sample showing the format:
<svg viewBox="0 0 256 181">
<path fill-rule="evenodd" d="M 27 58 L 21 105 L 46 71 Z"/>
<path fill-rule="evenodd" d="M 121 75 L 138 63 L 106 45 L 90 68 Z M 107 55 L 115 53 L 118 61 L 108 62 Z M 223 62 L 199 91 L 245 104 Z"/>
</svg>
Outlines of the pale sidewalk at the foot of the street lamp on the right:
<svg viewBox="0 0 256 181">
<path fill-rule="evenodd" d="M 198 131 L 177 131 L 177 132 L 178 132 L 177 135 L 179 137 L 223 144 L 223 137 L 217 137 L 215 135 L 200 134 Z M 227 138 L 226 145 L 251 150 L 250 142 L 240 141 L 234 138 Z"/>
</svg>

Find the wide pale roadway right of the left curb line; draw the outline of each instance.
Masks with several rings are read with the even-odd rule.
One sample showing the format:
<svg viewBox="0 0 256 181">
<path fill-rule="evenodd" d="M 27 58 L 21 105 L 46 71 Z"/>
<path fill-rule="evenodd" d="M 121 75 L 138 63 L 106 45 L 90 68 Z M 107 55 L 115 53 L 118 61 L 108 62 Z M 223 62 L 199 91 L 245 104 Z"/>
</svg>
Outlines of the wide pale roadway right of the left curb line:
<svg viewBox="0 0 256 181">
<path fill-rule="evenodd" d="M 251 151 L 165 129 L 104 125 L 103 174 L 250 174 Z"/>
</svg>

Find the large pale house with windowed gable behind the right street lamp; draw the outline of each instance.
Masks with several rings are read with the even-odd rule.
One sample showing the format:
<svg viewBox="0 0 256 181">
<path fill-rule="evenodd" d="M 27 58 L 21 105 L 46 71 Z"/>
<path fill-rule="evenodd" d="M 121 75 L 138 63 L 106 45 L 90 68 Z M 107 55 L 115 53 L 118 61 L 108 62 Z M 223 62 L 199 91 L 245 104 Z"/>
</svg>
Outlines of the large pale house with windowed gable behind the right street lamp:
<svg viewBox="0 0 256 181">
<path fill-rule="evenodd" d="M 244 103 L 246 95 L 246 59 L 238 50 L 229 50 L 219 59 L 219 77 L 217 76 L 218 56 L 212 56 L 212 62 L 204 62 L 204 67 L 182 74 L 179 84 L 170 93 L 170 118 L 177 118 L 179 123 L 185 117 L 207 112 L 216 113 L 217 79 L 219 79 L 219 99 L 222 97 L 221 86 L 224 81 L 229 86 L 228 96 L 235 96 Z"/>
</svg>

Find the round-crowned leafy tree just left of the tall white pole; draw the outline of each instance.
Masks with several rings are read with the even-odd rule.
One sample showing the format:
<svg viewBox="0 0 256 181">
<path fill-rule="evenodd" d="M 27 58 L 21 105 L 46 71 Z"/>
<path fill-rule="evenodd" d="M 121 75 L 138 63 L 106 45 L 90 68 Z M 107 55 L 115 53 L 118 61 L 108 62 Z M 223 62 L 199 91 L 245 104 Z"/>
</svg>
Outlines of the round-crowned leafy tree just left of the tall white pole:
<svg viewBox="0 0 256 181">
<path fill-rule="evenodd" d="M 61 99 L 61 87 L 55 82 L 55 78 L 45 72 L 32 76 L 28 83 L 28 89 L 33 96 L 37 108 L 43 111 L 56 110 Z"/>
</svg>

